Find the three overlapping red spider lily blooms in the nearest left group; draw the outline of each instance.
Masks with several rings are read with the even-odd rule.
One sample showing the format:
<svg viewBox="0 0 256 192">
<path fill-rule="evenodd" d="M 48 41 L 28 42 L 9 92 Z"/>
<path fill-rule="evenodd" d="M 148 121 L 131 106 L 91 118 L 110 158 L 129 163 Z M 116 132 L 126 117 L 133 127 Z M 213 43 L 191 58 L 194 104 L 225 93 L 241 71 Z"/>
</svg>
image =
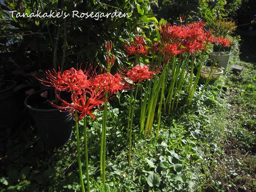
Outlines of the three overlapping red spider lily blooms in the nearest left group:
<svg viewBox="0 0 256 192">
<path fill-rule="evenodd" d="M 119 74 L 103 73 L 90 76 L 89 74 L 92 73 L 81 69 L 76 70 L 73 67 L 63 73 L 47 70 L 45 74 L 47 75 L 46 79 L 39 79 L 42 84 L 52 86 L 55 90 L 72 92 L 71 102 L 65 101 L 57 95 L 62 104 L 52 103 L 52 105 L 56 108 L 72 111 L 73 116 L 75 116 L 74 111 L 76 110 L 79 113 L 78 121 L 85 114 L 95 119 L 92 110 L 95 107 L 99 108 L 99 105 L 108 100 L 108 97 L 105 98 L 105 93 L 116 94 L 118 91 L 128 88 L 127 83 L 123 83 Z"/>
</svg>

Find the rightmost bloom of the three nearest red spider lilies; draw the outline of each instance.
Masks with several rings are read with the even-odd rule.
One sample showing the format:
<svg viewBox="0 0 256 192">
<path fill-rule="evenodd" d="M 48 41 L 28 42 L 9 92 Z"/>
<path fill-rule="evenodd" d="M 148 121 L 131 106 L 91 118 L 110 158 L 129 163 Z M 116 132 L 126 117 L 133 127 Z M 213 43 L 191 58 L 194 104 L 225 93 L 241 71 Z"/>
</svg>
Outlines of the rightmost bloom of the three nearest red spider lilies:
<svg viewBox="0 0 256 192">
<path fill-rule="evenodd" d="M 111 73 L 107 72 L 95 76 L 92 87 L 100 92 L 117 94 L 118 91 L 126 89 L 127 85 L 123 82 L 119 74 L 111 75 Z"/>
</svg>

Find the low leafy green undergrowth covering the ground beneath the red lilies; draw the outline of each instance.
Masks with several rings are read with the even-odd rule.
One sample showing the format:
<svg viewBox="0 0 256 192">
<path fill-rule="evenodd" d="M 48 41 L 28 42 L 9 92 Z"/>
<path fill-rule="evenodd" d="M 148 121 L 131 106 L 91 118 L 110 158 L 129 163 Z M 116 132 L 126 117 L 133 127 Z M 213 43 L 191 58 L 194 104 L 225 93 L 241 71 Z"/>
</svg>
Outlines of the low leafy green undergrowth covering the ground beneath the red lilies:
<svg viewBox="0 0 256 192">
<path fill-rule="evenodd" d="M 116 97 L 108 112 L 105 186 L 99 184 L 97 166 L 102 119 L 89 120 L 91 189 L 256 191 L 255 63 L 240 61 L 233 54 L 232 64 L 244 66 L 241 74 L 228 69 L 226 76 L 210 84 L 202 95 L 196 93 L 193 105 L 180 105 L 170 116 L 162 114 L 158 139 L 154 133 L 145 140 L 140 136 L 137 110 L 131 165 L 125 124 L 127 101 Z M 129 99 L 128 92 L 121 94 Z M 51 148 L 35 136 L 29 119 L 2 133 L 0 191 L 80 190 L 74 135 L 62 148 Z"/>
</svg>

